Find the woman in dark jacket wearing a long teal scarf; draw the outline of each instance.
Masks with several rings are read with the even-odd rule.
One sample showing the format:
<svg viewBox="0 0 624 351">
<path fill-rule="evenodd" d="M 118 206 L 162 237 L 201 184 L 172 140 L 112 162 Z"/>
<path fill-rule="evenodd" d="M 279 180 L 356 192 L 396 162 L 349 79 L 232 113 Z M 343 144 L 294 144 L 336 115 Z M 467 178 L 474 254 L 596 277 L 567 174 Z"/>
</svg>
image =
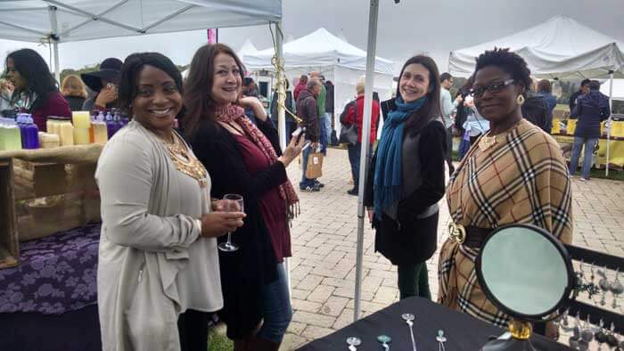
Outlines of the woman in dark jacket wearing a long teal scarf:
<svg viewBox="0 0 624 351">
<path fill-rule="evenodd" d="M 401 299 L 431 299 L 426 260 L 436 250 L 448 147 L 439 87 L 438 67 L 430 57 L 406 61 L 366 181 L 375 250 L 398 265 Z"/>
</svg>

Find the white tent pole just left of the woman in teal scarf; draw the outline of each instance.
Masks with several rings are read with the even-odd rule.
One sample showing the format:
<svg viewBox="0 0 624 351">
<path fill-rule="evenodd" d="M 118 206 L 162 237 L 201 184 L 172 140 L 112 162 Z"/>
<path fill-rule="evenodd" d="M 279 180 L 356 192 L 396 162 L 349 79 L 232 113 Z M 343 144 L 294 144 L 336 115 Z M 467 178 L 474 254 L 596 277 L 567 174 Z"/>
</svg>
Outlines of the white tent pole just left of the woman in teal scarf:
<svg viewBox="0 0 624 351">
<path fill-rule="evenodd" d="M 379 0 L 371 0 L 368 12 L 368 43 L 366 44 L 366 83 L 364 97 L 364 121 L 362 124 L 362 149 L 359 163 L 359 189 L 357 191 L 357 251 L 356 251 L 356 291 L 353 320 L 357 321 L 362 313 L 360 303 L 362 294 L 362 264 L 364 257 L 364 189 L 366 173 L 368 173 L 368 159 L 371 135 L 371 112 L 373 110 L 374 63 L 377 45 L 377 16 L 379 15 Z"/>
</svg>

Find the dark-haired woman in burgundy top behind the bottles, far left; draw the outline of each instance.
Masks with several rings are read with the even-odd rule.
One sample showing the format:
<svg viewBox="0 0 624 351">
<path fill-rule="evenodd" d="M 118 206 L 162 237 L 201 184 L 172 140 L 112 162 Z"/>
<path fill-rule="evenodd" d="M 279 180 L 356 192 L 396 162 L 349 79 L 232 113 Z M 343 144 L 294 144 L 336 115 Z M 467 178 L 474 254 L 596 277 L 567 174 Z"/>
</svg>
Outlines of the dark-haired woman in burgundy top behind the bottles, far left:
<svg viewBox="0 0 624 351">
<path fill-rule="evenodd" d="M 65 100 L 44 58 L 31 49 L 21 49 L 6 56 L 6 77 L 11 80 L 12 105 L 32 115 L 39 131 L 45 132 L 49 116 L 71 118 Z"/>
</svg>

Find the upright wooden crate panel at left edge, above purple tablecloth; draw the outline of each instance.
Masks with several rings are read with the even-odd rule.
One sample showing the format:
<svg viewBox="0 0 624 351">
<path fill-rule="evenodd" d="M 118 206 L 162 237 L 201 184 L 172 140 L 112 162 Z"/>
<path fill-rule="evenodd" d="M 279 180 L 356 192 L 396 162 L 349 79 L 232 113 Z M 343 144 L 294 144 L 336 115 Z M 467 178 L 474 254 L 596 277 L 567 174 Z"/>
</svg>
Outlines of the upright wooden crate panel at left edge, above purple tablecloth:
<svg viewBox="0 0 624 351">
<path fill-rule="evenodd" d="M 0 269 L 19 264 L 12 159 L 0 159 Z"/>
</svg>

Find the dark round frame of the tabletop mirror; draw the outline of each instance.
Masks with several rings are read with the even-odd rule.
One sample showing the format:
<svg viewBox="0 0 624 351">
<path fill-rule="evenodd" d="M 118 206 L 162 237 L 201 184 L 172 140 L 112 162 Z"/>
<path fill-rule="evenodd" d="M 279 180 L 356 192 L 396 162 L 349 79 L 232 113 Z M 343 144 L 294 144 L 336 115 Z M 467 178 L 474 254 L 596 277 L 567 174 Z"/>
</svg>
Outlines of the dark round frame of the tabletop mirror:
<svg viewBox="0 0 624 351">
<path fill-rule="evenodd" d="M 541 314 L 521 314 L 520 312 L 514 311 L 511 308 L 505 306 L 502 302 L 500 302 L 500 300 L 498 300 L 494 296 L 494 294 L 492 294 L 492 291 L 489 290 L 488 284 L 485 282 L 485 279 L 483 278 L 483 273 L 481 271 L 481 258 L 483 256 L 483 248 L 485 248 L 485 246 L 488 244 L 488 241 L 492 239 L 492 237 L 494 237 L 500 231 L 503 231 L 509 228 L 518 228 L 518 227 L 535 231 L 537 232 L 536 234 L 546 237 L 548 241 L 553 243 L 554 248 L 557 249 L 559 253 L 561 254 L 563 258 L 563 264 L 565 265 L 566 270 L 568 271 L 567 272 L 568 284 L 563 290 L 561 298 L 559 298 L 559 301 L 552 308 L 548 309 L 546 312 L 541 313 Z M 561 306 L 568 303 L 570 301 L 571 291 L 574 289 L 574 286 L 576 284 L 576 280 L 574 278 L 574 268 L 572 266 L 572 259 L 571 259 L 570 254 L 568 253 L 568 250 L 565 249 L 565 247 L 563 247 L 562 242 L 559 241 L 557 238 L 555 238 L 553 234 L 548 233 L 543 228 L 540 228 L 533 224 L 508 224 L 508 225 L 498 227 L 492 233 L 489 233 L 488 237 L 485 239 L 485 241 L 483 241 L 483 245 L 481 245 L 481 249 L 479 250 L 479 254 L 477 255 L 477 258 L 475 260 L 475 273 L 477 273 L 477 279 L 479 280 L 479 284 L 480 284 L 481 289 L 483 290 L 483 293 L 485 294 L 487 298 L 489 298 L 489 300 L 495 306 L 500 308 L 503 312 L 505 312 L 505 314 L 509 314 L 512 317 L 517 317 L 522 320 L 527 320 L 527 321 L 532 321 L 532 322 L 545 322 L 545 320 L 543 319 L 544 316 L 548 314 L 552 314 L 553 312 L 561 308 Z"/>
</svg>

